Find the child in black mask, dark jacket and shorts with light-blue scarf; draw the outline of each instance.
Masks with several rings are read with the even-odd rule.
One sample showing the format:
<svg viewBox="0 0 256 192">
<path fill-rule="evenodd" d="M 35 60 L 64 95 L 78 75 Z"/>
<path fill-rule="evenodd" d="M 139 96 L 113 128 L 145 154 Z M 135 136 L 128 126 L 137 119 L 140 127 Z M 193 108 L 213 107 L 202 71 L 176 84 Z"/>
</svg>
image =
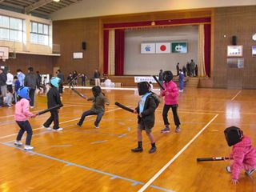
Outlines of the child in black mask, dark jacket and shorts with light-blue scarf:
<svg viewBox="0 0 256 192">
<path fill-rule="evenodd" d="M 138 83 L 138 94 L 142 96 L 138 102 L 138 106 L 134 109 L 134 113 L 138 114 L 138 147 L 131 151 L 142 152 L 142 130 L 146 130 L 146 134 L 150 138 L 151 142 L 151 149 L 149 150 L 149 153 L 152 154 L 157 150 L 153 134 L 151 133 L 151 130 L 154 127 L 154 110 L 157 106 L 152 93 L 150 92 L 150 84 L 148 82 Z"/>
</svg>

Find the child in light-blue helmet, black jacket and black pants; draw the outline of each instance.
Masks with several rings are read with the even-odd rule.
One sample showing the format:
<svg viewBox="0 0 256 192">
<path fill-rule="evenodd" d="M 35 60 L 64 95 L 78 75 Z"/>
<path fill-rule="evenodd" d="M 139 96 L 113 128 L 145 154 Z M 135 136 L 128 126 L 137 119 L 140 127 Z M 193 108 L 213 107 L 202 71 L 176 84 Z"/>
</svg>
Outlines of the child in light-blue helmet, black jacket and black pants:
<svg viewBox="0 0 256 192">
<path fill-rule="evenodd" d="M 60 78 L 51 78 L 50 79 L 50 90 L 47 93 L 47 105 L 48 108 L 54 107 L 57 105 L 62 106 L 62 101 L 60 98 L 60 94 L 58 92 L 58 87 L 59 87 L 59 82 Z M 54 122 L 54 129 L 55 131 L 63 130 L 62 128 L 59 127 L 58 124 L 58 110 L 51 110 L 50 111 L 50 118 L 47 119 L 47 121 L 43 124 L 42 127 L 46 128 L 47 130 L 51 130 L 50 124 Z"/>
</svg>

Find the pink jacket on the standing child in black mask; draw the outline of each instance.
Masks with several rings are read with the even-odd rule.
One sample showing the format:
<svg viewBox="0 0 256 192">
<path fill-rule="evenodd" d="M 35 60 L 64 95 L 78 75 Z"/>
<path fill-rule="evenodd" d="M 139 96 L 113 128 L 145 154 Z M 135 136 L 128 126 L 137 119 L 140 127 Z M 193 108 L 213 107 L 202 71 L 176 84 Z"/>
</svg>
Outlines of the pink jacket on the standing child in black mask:
<svg viewBox="0 0 256 192">
<path fill-rule="evenodd" d="M 178 88 L 175 82 L 164 82 L 162 86 L 165 90 L 162 90 L 161 96 L 165 97 L 165 104 L 166 105 L 176 105 L 178 104 Z"/>
</svg>

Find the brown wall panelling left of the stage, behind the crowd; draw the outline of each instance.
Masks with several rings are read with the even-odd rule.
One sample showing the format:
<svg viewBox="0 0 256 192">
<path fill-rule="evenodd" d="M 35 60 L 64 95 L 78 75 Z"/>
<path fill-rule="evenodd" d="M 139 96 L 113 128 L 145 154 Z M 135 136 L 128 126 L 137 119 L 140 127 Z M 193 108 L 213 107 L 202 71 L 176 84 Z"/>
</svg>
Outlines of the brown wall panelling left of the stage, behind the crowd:
<svg viewBox="0 0 256 192">
<path fill-rule="evenodd" d="M 54 66 L 59 66 L 67 74 L 77 70 L 92 77 L 99 66 L 99 19 L 79 18 L 56 21 L 53 24 L 54 44 L 60 45 L 61 57 L 54 58 Z M 86 50 L 82 50 L 86 42 Z M 84 58 L 73 59 L 74 52 L 83 52 Z M 99 69 L 102 72 L 102 69 Z"/>
</svg>

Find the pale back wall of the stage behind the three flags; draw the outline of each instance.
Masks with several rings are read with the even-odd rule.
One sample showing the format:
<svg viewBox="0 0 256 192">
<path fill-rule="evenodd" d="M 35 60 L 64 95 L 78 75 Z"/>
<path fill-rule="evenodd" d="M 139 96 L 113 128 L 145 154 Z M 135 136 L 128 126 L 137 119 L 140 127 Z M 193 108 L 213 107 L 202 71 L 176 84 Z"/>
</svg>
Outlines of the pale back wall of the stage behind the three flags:
<svg viewBox="0 0 256 192">
<path fill-rule="evenodd" d="M 188 42 L 186 54 L 141 54 L 142 42 Z M 159 70 L 171 70 L 176 74 L 186 62 L 198 61 L 198 26 L 173 26 L 165 29 L 126 30 L 124 74 L 158 74 Z"/>
</svg>

